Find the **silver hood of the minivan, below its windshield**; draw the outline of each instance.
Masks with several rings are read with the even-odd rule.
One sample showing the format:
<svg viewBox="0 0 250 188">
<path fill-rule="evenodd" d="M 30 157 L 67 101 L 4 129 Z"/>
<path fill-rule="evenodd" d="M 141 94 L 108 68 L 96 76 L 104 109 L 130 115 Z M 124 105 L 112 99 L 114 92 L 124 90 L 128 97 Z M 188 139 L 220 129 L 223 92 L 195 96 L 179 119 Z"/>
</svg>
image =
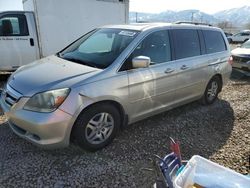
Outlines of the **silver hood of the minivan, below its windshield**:
<svg viewBox="0 0 250 188">
<path fill-rule="evenodd" d="M 11 75 L 8 84 L 25 96 L 32 96 L 42 91 L 72 87 L 100 71 L 49 56 L 19 68 Z"/>
</svg>

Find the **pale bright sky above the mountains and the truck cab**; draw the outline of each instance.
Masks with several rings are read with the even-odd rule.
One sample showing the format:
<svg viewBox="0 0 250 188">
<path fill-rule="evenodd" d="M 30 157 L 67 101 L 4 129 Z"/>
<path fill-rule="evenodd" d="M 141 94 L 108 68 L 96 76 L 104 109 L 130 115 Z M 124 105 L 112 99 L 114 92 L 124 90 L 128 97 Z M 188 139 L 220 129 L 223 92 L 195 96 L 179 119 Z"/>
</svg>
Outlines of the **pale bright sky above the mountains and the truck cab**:
<svg viewBox="0 0 250 188">
<path fill-rule="evenodd" d="M 245 5 L 250 6 L 250 0 L 130 0 L 130 11 L 157 13 L 165 10 L 198 9 L 215 13 Z M 0 0 L 0 11 L 4 10 L 22 10 L 22 0 Z"/>
</svg>

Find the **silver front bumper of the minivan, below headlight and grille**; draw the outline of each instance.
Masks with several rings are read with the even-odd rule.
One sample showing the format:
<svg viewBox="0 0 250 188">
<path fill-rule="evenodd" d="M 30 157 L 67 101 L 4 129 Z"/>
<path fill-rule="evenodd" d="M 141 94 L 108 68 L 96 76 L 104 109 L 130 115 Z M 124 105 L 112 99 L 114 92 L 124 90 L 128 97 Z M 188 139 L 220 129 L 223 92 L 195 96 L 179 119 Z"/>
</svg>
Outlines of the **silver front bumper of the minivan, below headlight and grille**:
<svg viewBox="0 0 250 188">
<path fill-rule="evenodd" d="M 1 94 L 0 105 L 15 134 L 43 148 L 69 145 L 72 116 L 60 109 L 52 113 L 38 113 L 23 109 L 29 98 L 21 97 L 13 106 Z"/>
</svg>

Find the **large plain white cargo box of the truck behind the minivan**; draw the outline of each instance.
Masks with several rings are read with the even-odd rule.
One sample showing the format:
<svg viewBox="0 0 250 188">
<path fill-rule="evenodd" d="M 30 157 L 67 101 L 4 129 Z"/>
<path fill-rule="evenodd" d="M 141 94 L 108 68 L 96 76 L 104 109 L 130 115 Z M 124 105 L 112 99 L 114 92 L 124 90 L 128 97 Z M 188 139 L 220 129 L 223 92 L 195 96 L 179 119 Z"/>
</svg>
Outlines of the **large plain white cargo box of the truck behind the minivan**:
<svg viewBox="0 0 250 188">
<path fill-rule="evenodd" d="M 60 51 L 84 33 L 128 22 L 128 0 L 23 0 L 35 15 L 40 56 Z"/>
</svg>

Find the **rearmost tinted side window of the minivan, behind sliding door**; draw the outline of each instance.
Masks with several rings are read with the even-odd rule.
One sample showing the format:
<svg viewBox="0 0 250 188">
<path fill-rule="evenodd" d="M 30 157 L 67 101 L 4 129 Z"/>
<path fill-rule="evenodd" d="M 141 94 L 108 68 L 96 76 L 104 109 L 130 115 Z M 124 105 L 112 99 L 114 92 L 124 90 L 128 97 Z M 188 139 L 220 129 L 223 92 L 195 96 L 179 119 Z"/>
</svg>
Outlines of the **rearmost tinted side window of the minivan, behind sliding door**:
<svg viewBox="0 0 250 188">
<path fill-rule="evenodd" d="M 219 31 L 202 31 L 205 39 L 207 54 L 225 51 L 226 44 L 221 32 Z"/>
</svg>

